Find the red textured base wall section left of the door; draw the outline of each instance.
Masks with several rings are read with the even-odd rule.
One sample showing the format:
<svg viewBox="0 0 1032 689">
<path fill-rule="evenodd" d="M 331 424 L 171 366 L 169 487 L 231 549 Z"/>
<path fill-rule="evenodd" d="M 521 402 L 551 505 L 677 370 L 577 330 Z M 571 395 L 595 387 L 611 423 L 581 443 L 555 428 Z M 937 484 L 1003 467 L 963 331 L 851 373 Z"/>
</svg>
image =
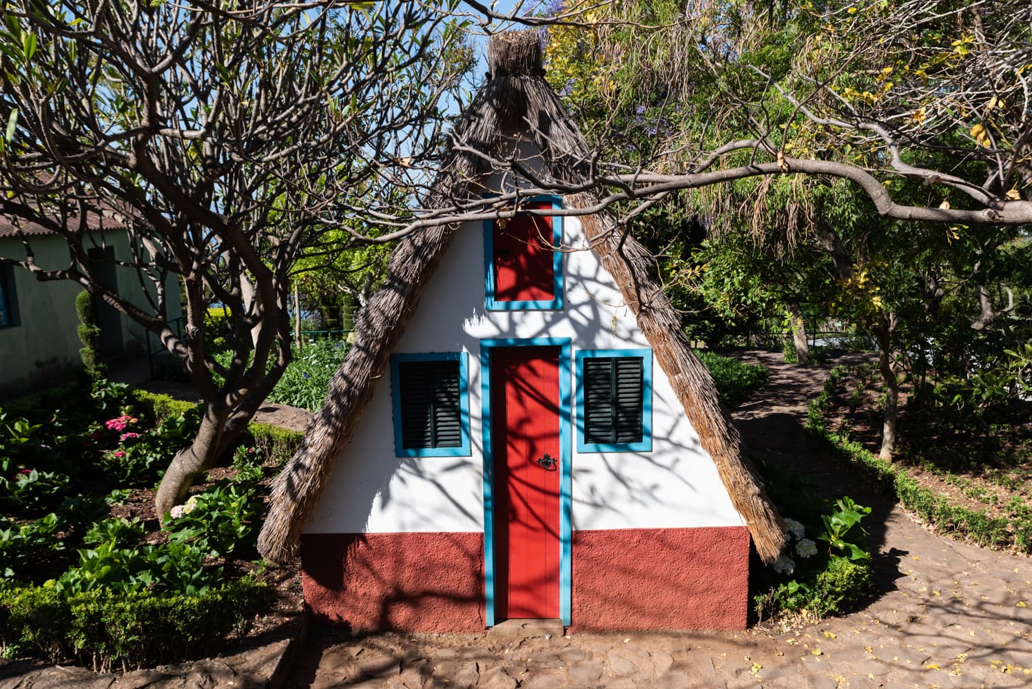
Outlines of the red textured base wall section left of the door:
<svg viewBox="0 0 1032 689">
<path fill-rule="evenodd" d="M 305 602 L 356 631 L 483 631 L 483 565 L 480 533 L 301 536 Z"/>
</svg>

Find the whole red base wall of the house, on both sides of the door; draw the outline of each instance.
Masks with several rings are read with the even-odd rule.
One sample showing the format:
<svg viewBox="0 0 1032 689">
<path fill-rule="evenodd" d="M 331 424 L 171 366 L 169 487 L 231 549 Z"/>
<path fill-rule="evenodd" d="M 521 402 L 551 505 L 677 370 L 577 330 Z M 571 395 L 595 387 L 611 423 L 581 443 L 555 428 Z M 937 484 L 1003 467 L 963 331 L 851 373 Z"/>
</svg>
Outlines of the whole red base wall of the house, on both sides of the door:
<svg viewBox="0 0 1032 689">
<path fill-rule="evenodd" d="M 479 533 L 304 534 L 304 599 L 354 630 L 484 629 Z M 745 527 L 574 531 L 578 630 L 741 629 Z"/>
</svg>

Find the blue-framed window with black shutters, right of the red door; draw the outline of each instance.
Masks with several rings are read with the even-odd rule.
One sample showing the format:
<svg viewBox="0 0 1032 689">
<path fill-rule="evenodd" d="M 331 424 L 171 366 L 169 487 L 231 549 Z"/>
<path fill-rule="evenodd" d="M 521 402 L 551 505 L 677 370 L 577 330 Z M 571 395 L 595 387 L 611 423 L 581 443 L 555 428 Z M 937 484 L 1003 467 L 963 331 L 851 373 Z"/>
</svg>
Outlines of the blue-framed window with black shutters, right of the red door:
<svg viewBox="0 0 1032 689">
<path fill-rule="evenodd" d="M 577 451 L 652 450 L 652 350 L 576 353 Z"/>
</svg>

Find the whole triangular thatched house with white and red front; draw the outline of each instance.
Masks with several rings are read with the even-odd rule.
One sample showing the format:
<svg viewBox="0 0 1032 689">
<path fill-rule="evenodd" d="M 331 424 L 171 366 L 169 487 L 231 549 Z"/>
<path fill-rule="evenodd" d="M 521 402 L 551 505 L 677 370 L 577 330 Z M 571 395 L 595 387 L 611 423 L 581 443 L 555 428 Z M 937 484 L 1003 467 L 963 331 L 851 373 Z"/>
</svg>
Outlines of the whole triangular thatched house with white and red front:
<svg viewBox="0 0 1032 689">
<path fill-rule="evenodd" d="M 491 40 L 428 207 L 511 188 L 470 150 L 516 145 L 542 175 L 583 177 L 538 41 Z M 607 212 L 517 217 L 397 248 L 259 540 L 273 562 L 300 555 L 315 614 L 425 631 L 745 625 L 750 534 L 770 561 L 783 523 L 654 266 L 615 229 Z"/>
</svg>

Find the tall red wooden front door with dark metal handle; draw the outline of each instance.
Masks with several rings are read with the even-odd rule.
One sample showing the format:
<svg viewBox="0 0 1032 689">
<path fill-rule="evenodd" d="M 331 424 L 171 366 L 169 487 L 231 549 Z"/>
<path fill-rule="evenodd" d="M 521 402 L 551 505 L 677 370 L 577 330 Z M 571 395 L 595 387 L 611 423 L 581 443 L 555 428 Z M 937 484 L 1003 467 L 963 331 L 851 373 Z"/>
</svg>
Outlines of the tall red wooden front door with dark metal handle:
<svg viewBox="0 0 1032 689">
<path fill-rule="evenodd" d="M 559 348 L 498 348 L 491 357 L 495 615 L 557 618 Z"/>
</svg>

